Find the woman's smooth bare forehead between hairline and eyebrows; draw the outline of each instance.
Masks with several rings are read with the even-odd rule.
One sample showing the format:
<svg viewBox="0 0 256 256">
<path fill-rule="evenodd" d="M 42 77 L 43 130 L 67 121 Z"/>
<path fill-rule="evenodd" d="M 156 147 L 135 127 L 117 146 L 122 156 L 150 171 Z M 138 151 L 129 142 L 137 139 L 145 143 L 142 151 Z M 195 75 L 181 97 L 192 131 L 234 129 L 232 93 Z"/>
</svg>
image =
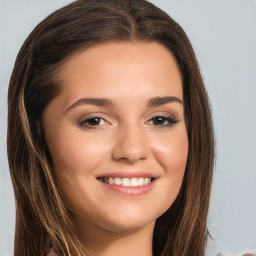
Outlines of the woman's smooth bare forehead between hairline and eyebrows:
<svg viewBox="0 0 256 256">
<path fill-rule="evenodd" d="M 62 95 L 182 98 L 182 78 L 173 54 L 156 42 L 111 42 L 80 51 L 62 66 Z M 161 95 L 162 94 L 162 95 Z M 80 95 L 81 96 L 81 95 Z M 74 99 L 75 100 L 75 99 Z"/>
</svg>

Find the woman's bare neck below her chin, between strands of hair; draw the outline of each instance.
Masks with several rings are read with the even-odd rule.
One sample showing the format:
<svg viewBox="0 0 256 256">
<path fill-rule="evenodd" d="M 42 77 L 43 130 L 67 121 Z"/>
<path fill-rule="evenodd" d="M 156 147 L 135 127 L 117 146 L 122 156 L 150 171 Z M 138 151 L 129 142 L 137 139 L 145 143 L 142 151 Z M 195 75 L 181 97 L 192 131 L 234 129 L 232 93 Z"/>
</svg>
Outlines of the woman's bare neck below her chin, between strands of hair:
<svg viewBox="0 0 256 256">
<path fill-rule="evenodd" d="M 152 256 L 154 224 L 128 231 L 111 231 L 83 219 L 77 222 L 77 230 L 90 256 Z"/>
</svg>

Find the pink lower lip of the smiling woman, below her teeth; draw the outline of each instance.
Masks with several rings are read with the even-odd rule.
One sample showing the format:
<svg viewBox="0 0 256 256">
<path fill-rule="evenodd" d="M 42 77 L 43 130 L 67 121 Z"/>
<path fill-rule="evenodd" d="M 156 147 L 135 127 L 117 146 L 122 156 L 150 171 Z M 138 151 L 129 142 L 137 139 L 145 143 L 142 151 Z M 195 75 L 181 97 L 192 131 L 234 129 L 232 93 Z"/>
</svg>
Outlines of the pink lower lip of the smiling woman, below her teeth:
<svg viewBox="0 0 256 256">
<path fill-rule="evenodd" d="M 101 185 L 103 185 L 105 188 L 110 189 L 114 192 L 129 195 L 129 196 L 141 196 L 149 191 L 152 190 L 153 186 L 155 185 L 156 180 L 152 181 L 150 184 L 146 186 L 139 186 L 139 187 L 125 187 L 121 185 L 110 185 L 107 183 L 104 183 L 102 181 L 99 181 Z"/>
</svg>

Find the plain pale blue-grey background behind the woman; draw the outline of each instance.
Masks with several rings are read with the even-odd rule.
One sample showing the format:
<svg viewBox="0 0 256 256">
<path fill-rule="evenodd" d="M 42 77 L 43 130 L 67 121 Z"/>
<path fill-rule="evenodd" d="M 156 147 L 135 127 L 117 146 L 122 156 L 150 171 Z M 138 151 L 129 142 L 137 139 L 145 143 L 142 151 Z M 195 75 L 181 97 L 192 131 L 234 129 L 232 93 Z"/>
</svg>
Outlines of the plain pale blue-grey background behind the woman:
<svg viewBox="0 0 256 256">
<path fill-rule="evenodd" d="M 15 218 L 6 157 L 9 77 L 34 26 L 69 2 L 0 0 L 0 256 L 12 255 Z M 186 31 L 211 99 L 217 160 L 209 230 L 224 255 L 256 253 L 256 1 L 152 2 Z"/>
</svg>

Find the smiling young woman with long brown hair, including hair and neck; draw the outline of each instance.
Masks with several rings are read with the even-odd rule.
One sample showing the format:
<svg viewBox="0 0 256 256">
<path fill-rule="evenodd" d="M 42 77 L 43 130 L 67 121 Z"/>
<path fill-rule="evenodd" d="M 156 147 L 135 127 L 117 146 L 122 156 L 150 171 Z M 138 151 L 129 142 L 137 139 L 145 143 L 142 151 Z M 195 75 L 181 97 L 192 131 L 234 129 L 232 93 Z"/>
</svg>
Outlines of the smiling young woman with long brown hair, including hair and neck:
<svg viewBox="0 0 256 256">
<path fill-rule="evenodd" d="M 166 13 L 141 0 L 56 11 L 22 46 L 8 107 L 15 255 L 204 255 L 211 114 Z"/>
</svg>

